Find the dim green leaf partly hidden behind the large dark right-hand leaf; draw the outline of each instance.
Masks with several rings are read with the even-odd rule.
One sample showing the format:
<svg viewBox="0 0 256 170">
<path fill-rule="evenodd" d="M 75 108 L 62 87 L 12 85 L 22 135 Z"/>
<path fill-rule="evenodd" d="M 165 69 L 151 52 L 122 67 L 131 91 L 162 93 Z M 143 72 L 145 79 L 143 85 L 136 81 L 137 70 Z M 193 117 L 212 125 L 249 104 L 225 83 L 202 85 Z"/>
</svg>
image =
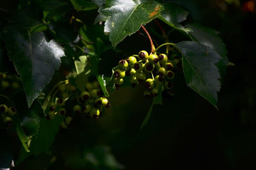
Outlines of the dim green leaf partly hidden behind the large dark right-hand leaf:
<svg viewBox="0 0 256 170">
<path fill-rule="evenodd" d="M 219 32 L 195 23 L 188 24 L 186 27 L 193 29 L 193 32 L 190 32 L 189 34 L 195 37 L 198 42 L 209 46 L 220 54 L 223 59 L 218 62 L 217 66 L 221 73 L 224 74 L 226 72 L 226 65 L 228 64 L 227 49 L 221 37 L 218 36 Z"/>
</svg>

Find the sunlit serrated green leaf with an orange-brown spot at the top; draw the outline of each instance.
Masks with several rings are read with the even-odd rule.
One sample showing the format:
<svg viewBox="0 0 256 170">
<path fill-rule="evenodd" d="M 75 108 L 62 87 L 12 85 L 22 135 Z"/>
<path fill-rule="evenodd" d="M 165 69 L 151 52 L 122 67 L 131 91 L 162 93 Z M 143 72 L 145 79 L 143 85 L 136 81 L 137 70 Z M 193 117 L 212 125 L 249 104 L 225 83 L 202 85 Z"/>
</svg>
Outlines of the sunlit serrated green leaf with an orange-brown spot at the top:
<svg viewBox="0 0 256 170">
<path fill-rule="evenodd" d="M 105 22 L 105 32 L 113 47 L 126 36 L 134 34 L 142 24 L 148 23 L 160 15 L 163 6 L 154 1 L 137 5 L 133 0 L 106 0 L 106 5 L 99 9 L 100 14 L 109 19 Z"/>
</svg>

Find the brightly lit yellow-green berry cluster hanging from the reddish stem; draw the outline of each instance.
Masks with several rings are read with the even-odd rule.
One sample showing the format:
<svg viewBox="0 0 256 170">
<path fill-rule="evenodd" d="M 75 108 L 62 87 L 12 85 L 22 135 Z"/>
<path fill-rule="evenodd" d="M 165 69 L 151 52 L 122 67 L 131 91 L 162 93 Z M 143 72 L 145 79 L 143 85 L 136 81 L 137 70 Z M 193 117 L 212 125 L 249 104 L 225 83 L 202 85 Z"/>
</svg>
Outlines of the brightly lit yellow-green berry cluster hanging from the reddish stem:
<svg viewBox="0 0 256 170">
<path fill-rule="evenodd" d="M 137 61 L 137 58 L 140 59 Z M 115 87 L 119 88 L 124 77 L 131 77 L 132 88 L 139 83 L 144 84 L 147 89 L 144 96 L 157 96 L 158 90 L 164 91 L 165 96 L 173 96 L 174 91 L 172 79 L 174 78 L 173 62 L 166 54 L 150 54 L 147 51 L 140 51 L 138 55 L 121 59 L 118 68 L 114 71 Z"/>
</svg>

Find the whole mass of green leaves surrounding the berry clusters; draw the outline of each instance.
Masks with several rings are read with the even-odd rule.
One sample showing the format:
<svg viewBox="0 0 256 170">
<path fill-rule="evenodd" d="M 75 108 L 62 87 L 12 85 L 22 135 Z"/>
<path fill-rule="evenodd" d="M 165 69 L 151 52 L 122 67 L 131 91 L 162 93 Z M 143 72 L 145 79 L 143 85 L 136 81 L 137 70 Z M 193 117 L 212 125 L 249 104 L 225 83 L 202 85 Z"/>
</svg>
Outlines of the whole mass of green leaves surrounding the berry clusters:
<svg viewBox="0 0 256 170">
<path fill-rule="evenodd" d="M 41 107 L 49 100 L 44 94 L 63 79 L 85 91 L 85 84 L 93 75 L 104 96 L 109 96 L 111 67 L 116 65 L 113 62 L 125 58 L 116 52 L 125 53 L 118 44 L 152 20 L 170 29 L 169 34 L 177 31 L 189 40 L 171 45 L 182 55 L 186 84 L 217 108 L 220 73 L 224 73 L 228 62 L 225 45 L 211 28 L 182 26 L 189 13 L 177 4 L 151 0 L 31 0 L 17 6 L 15 11 L 6 11 L 7 18 L 0 20 L 0 73 L 17 74 L 24 90 L 9 95 L 17 109 L 14 131 L 26 150 L 20 152 L 17 163 L 49 150 L 58 132 L 61 119 L 47 121 L 44 105 Z M 88 13 L 96 10 L 99 14 L 95 20 L 88 19 Z M 170 41 L 164 32 L 160 37 Z M 142 127 L 156 104 L 162 104 L 162 99 L 153 100 Z M 6 155 L 12 154 L 8 151 Z M 5 167 L 10 166 L 11 160 Z"/>
</svg>

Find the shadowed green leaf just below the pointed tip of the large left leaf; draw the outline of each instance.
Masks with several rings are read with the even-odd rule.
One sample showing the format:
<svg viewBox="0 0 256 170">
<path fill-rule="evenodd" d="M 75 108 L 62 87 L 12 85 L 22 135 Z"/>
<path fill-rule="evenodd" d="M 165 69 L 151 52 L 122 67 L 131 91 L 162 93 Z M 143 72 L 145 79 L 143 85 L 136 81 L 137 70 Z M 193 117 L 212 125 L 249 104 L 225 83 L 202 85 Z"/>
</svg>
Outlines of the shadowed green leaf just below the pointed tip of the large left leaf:
<svg viewBox="0 0 256 170">
<path fill-rule="evenodd" d="M 36 100 L 30 108 L 26 105 L 26 96 L 18 93 L 12 97 L 15 108 L 19 114 L 20 125 L 26 136 L 33 136 L 38 133 L 41 119 L 45 116 L 41 104 Z"/>
</svg>

